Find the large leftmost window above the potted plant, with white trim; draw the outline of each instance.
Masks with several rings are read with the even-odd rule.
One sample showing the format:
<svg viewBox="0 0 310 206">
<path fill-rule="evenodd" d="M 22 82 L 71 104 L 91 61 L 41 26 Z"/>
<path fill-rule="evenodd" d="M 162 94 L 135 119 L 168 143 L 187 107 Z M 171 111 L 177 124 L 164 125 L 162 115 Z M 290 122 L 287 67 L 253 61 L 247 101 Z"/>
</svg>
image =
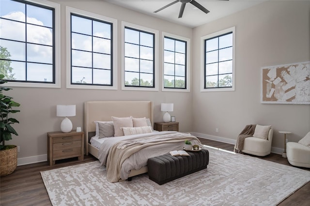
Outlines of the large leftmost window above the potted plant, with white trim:
<svg viewBox="0 0 310 206">
<path fill-rule="evenodd" d="M 60 87 L 59 8 L 52 2 L 1 1 L 0 73 L 8 86 Z"/>
</svg>

